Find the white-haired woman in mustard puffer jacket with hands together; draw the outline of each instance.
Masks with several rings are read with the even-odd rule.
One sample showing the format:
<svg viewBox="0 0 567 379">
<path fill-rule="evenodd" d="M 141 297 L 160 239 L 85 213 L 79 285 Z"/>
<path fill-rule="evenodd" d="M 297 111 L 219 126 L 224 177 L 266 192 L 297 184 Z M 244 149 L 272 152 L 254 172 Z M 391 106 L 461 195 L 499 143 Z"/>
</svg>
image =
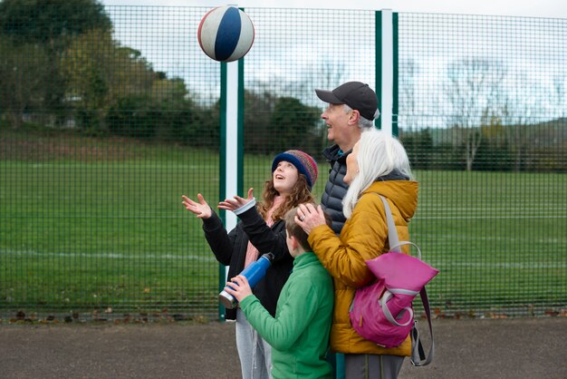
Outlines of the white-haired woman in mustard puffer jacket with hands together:
<svg viewBox="0 0 567 379">
<path fill-rule="evenodd" d="M 339 237 L 325 224 L 321 207 L 301 205 L 296 222 L 309 235 L 313 252 L 334 280 L 331 347 L 345 355 L 346 377 L 396 378 L 404 357 L 410 355 L 409 336 L 397 347 L 380 347 L 354 331 L 349 308 L 356 288 L 373 280 L 365 261 L 389 251 L 379 195 L 388 199 L 399 239 L 408 240 L 408 221 L 418 207 L 418 182 L 412 180 L 401 143 L 375 129 L 361 134 L 347 158 L 344 180 L 349 184 L 342 202 L 347 221 Z"/>
</svg>

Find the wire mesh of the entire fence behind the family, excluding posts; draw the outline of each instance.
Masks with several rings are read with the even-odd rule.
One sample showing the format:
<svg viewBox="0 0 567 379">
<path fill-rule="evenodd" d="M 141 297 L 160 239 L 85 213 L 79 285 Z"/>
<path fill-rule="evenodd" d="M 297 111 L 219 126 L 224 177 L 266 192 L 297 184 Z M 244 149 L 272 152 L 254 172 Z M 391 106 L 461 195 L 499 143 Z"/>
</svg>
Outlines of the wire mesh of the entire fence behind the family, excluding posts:
<svg viewBox="0 0 567 379">
<path fill-rule="evenodd" d="M 210 9 L 16 3 L 0 3 L 0 317 L 215 318 L 218 264 L 180 199 L 219 200 L 221 70 L 197 43 Z M 259 195 L 274 154 L 302 149 L 320 199 L 313 90 L 374 87 L 377 13 L 245 12 L 242 190 Z M 396 19 L 432 308 L 565 316 L 567 20 Z"/>
</svg>

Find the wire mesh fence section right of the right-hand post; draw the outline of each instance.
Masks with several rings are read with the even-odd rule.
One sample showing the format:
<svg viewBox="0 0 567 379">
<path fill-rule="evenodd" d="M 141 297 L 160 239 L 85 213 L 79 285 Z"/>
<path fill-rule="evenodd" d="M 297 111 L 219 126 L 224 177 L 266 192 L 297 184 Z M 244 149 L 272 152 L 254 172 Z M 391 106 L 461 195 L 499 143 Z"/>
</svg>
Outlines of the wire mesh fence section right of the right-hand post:
<svg viewBox="0 0 567 379">
<path fill-rule="evenodd" d="M 564 314 L 565 20 L 399 15 L 412 238 L 442 316 Z M 562 311 L 561 311 L 562 310 Z"/>
</svg>

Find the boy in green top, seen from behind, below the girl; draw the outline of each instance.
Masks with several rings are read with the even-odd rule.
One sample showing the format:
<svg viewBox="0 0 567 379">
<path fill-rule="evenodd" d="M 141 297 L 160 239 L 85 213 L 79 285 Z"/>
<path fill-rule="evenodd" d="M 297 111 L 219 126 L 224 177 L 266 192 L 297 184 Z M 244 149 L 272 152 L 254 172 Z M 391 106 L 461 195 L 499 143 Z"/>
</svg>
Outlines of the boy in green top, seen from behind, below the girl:
<svg viewBox="0 0 567 379">
<path fill-rule="evenodd" d="M 332 277 L 312 253 L 307 234 L 295 223 L 297 208 L 285 214 L 286 243 L 293 258 L 292 275 L 282 288 L 275 317 L 252 294 L 243 276 L 233 277 L 226 292 L 238 299 L 250 325 L 272 345 L 272 376 L 331 378 L 325 359 L 332 323 Z M 331 226 L 331 219 L 327 217 Z M 229 285 L 233 285 L 229 287 Z"/>
</svg>

